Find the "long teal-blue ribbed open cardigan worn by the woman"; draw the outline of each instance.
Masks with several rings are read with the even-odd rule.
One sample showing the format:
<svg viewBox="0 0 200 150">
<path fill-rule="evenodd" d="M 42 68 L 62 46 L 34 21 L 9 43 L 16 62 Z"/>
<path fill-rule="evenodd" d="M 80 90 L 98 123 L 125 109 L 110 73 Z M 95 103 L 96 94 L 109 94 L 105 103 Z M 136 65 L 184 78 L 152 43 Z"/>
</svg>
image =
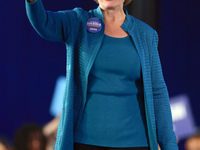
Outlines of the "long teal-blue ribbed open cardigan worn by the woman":
<svg viewBox="0 0 200 150">
<path fill-rule="evenodd" d="M 41 0 L 26 2 L 26 11 L 32 26 L 43 38 L 66 43 L 66 90 L 55 149 L 73 150 L 74 135 L 85 108 L 88 75 L 104 37 L 103 14 L 99 7 L 89 12 L 81 8 L 45 11 Z M 87 31 L 87 20 L 91 17 L 102 21 L 100 32 Z M 135 43 L 142 65 L 150 149 L 157 150 L 159 144 L 162 150 L 178 150 L 157 51 L 157 33 L 127 13 L 126 17 L 121 27 Z"/>
</svg>

